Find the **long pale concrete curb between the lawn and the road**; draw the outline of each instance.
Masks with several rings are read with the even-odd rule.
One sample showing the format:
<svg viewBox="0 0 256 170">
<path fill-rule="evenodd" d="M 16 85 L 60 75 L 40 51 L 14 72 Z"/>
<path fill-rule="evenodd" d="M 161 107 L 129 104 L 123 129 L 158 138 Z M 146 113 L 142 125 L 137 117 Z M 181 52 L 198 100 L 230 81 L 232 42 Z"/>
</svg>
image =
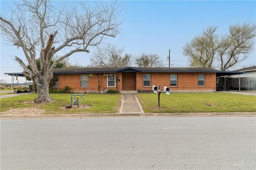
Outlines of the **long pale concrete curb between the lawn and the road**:
<svg viewBox="0 0 256 170">
<path fill-rule="evenodd" d="M 98 113 L 56 115 L 0 115 L 0 119 L 81 119 L 101 117 L 256 117 L 256 112 L 244 113 Z"/>
</svg>

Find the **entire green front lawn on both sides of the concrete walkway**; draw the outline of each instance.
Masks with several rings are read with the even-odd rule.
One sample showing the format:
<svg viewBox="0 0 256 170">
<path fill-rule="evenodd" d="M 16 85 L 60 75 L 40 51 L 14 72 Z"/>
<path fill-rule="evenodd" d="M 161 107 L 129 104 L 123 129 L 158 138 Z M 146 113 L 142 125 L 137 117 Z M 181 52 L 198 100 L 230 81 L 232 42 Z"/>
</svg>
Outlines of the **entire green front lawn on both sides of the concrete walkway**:
<svg viewBox="0 0 256 170">
<path fill-rule="evenodd" d="M 118 113 L 123 94 L 86 94 L 85 105 L 79 97 L 79 108 L 65 109 L 70 104 L 71 94 L 50 94 L 54 103 L 34 104 L 37 94 L 20 95 L 1 99 L 0 109 L 11 108 L 44 109 L 44 114 L 75 113 Z M 160 95 L 158 110 L 158 94 L 136 94 L 145 113 L 189 113 L 189 112 L 256 112 L 256 96 L 230 93 L 171 93 Z M 74 99 L 74 98 L 73 98 Z"/>
</svg>

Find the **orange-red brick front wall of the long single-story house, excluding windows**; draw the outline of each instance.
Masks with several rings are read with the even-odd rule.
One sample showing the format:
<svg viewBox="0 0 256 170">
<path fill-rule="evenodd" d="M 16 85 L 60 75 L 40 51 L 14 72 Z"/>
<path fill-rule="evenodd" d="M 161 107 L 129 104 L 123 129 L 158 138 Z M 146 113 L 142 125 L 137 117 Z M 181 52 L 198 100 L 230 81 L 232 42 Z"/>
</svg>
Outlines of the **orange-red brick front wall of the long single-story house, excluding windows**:
<svg viewBox="0 0 256 170">
<path fill-rule="evenodd" d="M 108 74 L 115 75 L 115 87 L 108 86 Z M 143 86 L 143 75 L 150 74 L 150 86 Z M 177 86 L 170 86 L 170 75 L 177 75 Z M 198 74 L 204 75 L 204 85 L 198 85 Z M 54 89 L 63 89 L 66 85 L 71 87 L 73 92 L 82 91 L 104 91 L 105 89 L 122 90 L 151 90 L 153 85 L 161 85 L 170 88 L 170 90 L 215 90 L 216 89 L 216 73 L 94 73 L 94 74 L 56 74 L 59 77 L 59 87 Z M 88 87 L 81 87 L 80 75 L 88 75 Z M 91 75 L 91 77 L 89 76 Z M 124 79 L 123 79 L 124 77 Z"/>
</svg>

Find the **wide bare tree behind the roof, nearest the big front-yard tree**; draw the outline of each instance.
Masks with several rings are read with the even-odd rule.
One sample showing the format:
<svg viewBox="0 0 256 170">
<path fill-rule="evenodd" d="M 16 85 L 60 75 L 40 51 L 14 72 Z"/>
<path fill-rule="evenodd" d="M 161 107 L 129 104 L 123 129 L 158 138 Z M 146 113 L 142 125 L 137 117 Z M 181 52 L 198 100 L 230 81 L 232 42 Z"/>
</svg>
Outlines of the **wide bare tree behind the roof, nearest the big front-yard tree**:
<svg viewBox="0 0 256 170">
<path fill-rule="evenodd" d="M 114 45 L 97 47 L 93 57 L 90 57 L 92 67 L 128 67 L 132 65 L 132 56 L 125 54 L 122 57 L 124 48 L 117 48 Z"/>
</svg>

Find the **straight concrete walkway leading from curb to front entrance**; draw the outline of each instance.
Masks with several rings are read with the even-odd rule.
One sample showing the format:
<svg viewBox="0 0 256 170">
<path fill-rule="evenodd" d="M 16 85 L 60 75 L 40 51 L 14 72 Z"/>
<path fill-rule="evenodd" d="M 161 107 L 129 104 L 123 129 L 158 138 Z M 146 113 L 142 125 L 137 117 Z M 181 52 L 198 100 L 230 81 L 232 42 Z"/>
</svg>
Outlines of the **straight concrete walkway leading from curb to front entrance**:
<svg viewBox="0 0 256 170">
<path fill-rule="evenodd" d="M 144 113 L 134 93 L 124 93 L 119 113 Z"/>
</svg>

